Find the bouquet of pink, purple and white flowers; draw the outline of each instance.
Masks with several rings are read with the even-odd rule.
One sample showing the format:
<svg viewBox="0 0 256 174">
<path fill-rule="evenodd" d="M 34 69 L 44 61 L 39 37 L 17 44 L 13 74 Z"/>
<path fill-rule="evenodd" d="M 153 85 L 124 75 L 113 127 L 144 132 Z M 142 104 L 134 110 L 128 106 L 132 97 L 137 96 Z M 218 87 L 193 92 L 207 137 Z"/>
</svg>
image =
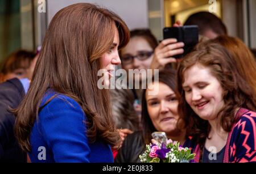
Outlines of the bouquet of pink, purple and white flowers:
<svg viewBox="0 0 256 174">
<path fill-rule="evenodd" d="M 189 163 L 195 155 L 189 148 L 183 148 L 179 142 L 169 139 L 162 144 L 146 145 L 146 151 L 139 158 L 142 163 Z"/>
</svg>

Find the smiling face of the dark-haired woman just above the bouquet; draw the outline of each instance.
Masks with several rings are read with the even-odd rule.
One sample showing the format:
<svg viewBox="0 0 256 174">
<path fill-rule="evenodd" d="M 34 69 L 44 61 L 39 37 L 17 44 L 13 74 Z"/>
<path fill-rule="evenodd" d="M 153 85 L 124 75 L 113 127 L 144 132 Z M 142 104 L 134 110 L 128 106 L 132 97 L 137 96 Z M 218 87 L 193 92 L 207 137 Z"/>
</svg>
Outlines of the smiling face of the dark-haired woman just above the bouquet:
<svg viewBox="0 0 256 174">
<path fill-rule="evenodd" d="M 156 95 L 148 95 L 150 90 L 159 88 Z M 158 131 L 164 131 L 167 135 L 174 132 L 179 115 L 177 114 L 178 101 L 174 91 L 162 82 L 155 82 L 148 86 L 146 91 L 147 111 Z"/>
</svg>

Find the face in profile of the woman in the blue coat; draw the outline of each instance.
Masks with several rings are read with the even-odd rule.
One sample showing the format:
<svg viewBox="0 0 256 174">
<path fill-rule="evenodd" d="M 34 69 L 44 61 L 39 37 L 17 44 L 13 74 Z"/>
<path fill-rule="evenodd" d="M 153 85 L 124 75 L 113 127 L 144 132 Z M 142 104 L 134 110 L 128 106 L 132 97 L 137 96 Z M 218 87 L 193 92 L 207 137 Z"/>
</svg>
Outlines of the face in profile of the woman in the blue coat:
<svg viewBox="0 0 256 174">
<path fill-rule="evenodd" d="M 109 52 L 104 53 L 101 57 L 101 69 L 104 70 L 105 84 L 108 85 L 110 83 L 109 79 L 113 77 L 112 71 L 115 70 L 115 65 L 121 63 L 118 54 L 118 45 L 119 45 L 119 33 L 117 27 L 115 27 L 115 35 L 113 44 L 109 50 Z"/>
</svg>

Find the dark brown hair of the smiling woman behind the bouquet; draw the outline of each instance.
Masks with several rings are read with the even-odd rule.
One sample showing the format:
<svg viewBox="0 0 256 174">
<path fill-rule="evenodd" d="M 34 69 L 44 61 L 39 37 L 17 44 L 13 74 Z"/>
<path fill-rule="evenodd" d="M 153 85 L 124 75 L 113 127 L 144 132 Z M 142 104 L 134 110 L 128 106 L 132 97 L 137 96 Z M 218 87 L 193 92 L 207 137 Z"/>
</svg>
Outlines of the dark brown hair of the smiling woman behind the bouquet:
<svg viewBox="0 0 256 174">
<path fill-rule="evenodd" d="M 152 80 L 154 82 L 154 78 Z M 164 69 L 159 71 L 159 81 L 166 84 L 168 87 L 174 91 L 177 98 L 179 98 L 179 92 L 177 91 L 176 84 L 176 71 L 172 69 Z M 147 111 L 147 101 L 146 101 L 146 90 L 142 93 L 142 113 L 141 113 L 141 124 L 142 124 L 142 135 L 144 143 L 149 144 L 151 142 L 151 133 L 157 131 L 153 125 L 150 116 Z"/>
</svg>

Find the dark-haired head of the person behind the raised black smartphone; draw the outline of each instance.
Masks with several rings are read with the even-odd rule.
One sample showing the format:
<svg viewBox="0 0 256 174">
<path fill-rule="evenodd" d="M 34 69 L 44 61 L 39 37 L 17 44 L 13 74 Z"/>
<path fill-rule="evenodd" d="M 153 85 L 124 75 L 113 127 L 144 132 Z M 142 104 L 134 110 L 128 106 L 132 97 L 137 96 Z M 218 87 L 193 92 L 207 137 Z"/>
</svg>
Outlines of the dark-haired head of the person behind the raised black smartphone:
<svg viewBox="0 0 256 174">
<path fill-rule="evenodd" d="M 208 11 L 200 11 L 192 14 L 185 21 L 184 26 L 196 25 L 199 35 L 214 39 L 220 35 L 228 35 L 225 24 L 216 15 Z"/>
</svg>

